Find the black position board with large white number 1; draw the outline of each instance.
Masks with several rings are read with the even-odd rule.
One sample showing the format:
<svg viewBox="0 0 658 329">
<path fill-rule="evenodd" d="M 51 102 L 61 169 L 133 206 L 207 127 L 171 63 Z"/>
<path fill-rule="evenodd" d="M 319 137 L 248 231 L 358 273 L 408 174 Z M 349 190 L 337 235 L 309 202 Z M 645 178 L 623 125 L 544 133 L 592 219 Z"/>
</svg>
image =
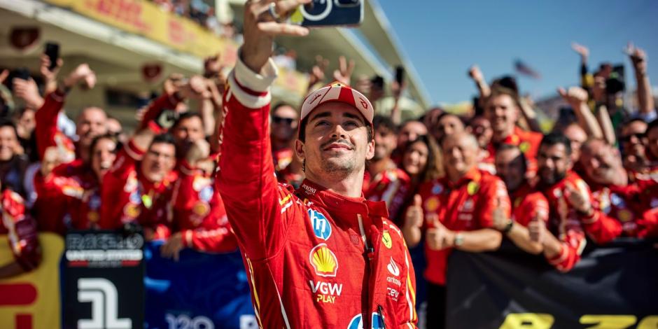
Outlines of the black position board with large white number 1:
<svg viewBox="0 0 658 329">
<path fill-rule="evenodd" d="M 64 328 L 144 327 L 144 237 L 73 231 L 62 256 Z"/>
</svg>

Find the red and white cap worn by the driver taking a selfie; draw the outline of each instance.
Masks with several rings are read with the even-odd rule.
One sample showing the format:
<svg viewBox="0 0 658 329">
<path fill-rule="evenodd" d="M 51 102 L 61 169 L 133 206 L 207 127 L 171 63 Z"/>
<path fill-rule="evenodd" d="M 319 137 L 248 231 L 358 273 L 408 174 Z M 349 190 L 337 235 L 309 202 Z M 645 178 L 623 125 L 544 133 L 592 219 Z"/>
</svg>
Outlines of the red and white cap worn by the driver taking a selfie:
<svg viewBox="0 0 658 329">
<path fill-rule="evenodd" d="M 367 123 L 370 123 L 372 126 L 374 109 L 372 109 L 372 104 L 370 104 L 367 97 L 349 85 L 339 83 L 338 81 L 332 82 L 314 92 L 311 92 L 311 94 L 304 99 L 300 121 L 304 120 L 304 118 L 306 118 L 311 111 L 316 109 L 316 107 L 326 102 L 341 102 L 353 106 L 361 113 Z"/>
</svg>

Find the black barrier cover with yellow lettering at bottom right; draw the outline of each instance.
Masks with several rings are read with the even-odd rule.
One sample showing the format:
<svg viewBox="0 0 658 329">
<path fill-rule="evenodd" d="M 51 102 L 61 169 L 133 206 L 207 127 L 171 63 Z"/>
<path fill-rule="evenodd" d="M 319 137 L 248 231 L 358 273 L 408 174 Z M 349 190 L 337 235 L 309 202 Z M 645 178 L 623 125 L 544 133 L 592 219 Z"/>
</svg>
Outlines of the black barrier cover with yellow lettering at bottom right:
<svg viewBox="0 0 658 329">
<path fill-rule="evenodd" d="M 658 249 L 616 241 L 586 251 L 570 272 L 505 241 L 456 251 L 447 272 L 447 328 L 658 328 Z"/>
</svg>

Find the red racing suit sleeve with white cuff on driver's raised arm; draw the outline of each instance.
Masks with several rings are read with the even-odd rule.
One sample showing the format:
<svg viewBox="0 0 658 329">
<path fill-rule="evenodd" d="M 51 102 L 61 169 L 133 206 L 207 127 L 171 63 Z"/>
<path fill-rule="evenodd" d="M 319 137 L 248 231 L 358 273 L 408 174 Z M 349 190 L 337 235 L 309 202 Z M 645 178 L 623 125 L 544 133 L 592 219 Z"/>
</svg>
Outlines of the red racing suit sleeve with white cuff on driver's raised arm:
<svg viewBox="0 0 658 329">
<path fill-rule="evenodd" d="M 269 85 L 275 78 L 272 59 L 255 73 L 238 58 L 223 96 L 228 113 L 216 184 L 239 246 L 252 260 L 273 255 L 285 239 L 269 141 Z"/>
</svg>

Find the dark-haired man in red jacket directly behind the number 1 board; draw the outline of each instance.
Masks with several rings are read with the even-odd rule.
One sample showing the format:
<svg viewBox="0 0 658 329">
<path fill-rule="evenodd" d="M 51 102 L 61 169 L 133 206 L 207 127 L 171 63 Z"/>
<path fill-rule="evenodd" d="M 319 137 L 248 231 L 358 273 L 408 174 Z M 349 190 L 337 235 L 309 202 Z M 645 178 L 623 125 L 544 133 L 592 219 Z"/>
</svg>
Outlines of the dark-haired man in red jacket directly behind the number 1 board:
<svg viewBox="0 0 658 329">
<path fill-rule="evenodd" d="M 169 134 L 139 131 L 117 154 L 104 176 L 101 228 L 139 223 L 147 239 L 169 237 L 172 192 L 178 179 L 174 171 L 176 146 Z"/>
</svg>

